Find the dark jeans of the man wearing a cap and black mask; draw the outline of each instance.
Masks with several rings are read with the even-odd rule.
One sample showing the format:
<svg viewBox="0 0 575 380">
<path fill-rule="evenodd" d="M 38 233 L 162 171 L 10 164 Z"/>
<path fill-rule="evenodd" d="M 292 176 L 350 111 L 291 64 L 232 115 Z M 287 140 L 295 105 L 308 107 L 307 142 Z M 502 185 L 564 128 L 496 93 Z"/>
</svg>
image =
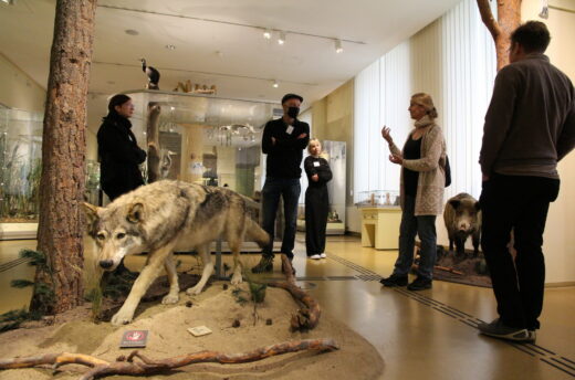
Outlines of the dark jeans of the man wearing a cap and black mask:
<svg viewBox="0 0 575 380">
<path fill-rule="evenodd" d="M 295 226 L 297 220 L 297 201 L 300 199 L 301 186 L 299 178 L 272 178 L 265 179 L 262 190 L 262 228 L 272 238 L 270 244 L 263 249 L 264 256 L 273 257 L 273 236 L 275 226 L 275 214 L 280 197 L 283 198 L 283 213 L 285 224 L 283 231 L 282 253 L 293 258 L 293 246 L 295 244 Z"/>
</svg>

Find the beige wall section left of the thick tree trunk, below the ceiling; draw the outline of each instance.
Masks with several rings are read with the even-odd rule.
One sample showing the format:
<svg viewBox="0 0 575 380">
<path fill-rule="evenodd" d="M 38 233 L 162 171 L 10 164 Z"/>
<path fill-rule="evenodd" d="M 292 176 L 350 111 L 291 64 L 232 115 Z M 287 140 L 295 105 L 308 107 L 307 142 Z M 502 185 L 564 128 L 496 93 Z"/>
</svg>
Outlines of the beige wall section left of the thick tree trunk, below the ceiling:
<svg viewBox="0 0 575 380">
<path fill-rule="evenodd" d="M 0 53 L 0 103 L 10 108 L 44 112 L 45 88 Z"/>
</svg>

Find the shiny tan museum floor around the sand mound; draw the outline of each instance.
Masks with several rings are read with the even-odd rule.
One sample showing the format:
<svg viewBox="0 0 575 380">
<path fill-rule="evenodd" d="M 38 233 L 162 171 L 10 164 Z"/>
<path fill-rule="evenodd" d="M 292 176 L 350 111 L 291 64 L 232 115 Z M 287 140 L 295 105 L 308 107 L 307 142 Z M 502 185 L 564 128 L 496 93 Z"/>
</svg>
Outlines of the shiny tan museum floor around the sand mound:
<svg viewBox="0 0 575 380">
<path fill-rule="evenodd" d="M 386 362 L 385 379 L 574 379 L 575 287 L 548 287 L 536 345 L 514 345 L 478 336 L 478 319 L 495 316 L 490 288 L 435 282 L 420 293 L 383 288 L 397 252 L 360 246 L 359 239 L 331 236 L 328 257 L 305 260 L 297 236 L 294 266 L 323 309 L 364 336 Z M 32 268 L 18 258 L 35 241 L 0 242 L 0 313 L 25 305 L 29 291 L 10 288 Z M 88 247 L 91 245 L 87 245 Z M 88 251 L 88 249 L 86 249 Z M 230 260 L 224 255 L 224 261 Z M 242 255 L 255 264 L 257 255 Z M 178 256 L 197 266 L 195 257 Z M 143 257 L 127 265 L 137 267 Z M 1 341 L 1 335 L 0 335 Z"/>
</svg>

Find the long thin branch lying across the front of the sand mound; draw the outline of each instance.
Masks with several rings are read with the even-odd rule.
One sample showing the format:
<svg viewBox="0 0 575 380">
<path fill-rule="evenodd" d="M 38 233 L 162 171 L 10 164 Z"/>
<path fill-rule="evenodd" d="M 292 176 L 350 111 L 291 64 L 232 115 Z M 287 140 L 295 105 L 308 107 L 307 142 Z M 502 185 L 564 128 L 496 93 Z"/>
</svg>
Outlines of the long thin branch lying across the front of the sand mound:
<svg viewBox="0 0 575 380">
<path fill-rule="evenodd" d="M 198 362 L 241 363 L 303 350 L 333 351 L 336 349 L 339 349 L 337 344 L 333 339 L 326 338 L 285 341 L 241 353 L 199 351 L 161 360 L 149 359 L 137 350 L 132 351 L 127 358 L 124 356 L 118 357 L 115 362 L 108 362 L 88 355 L 60 352 L 25 358 L 0 359 L 0 369 L 31 368 L 42 365 L 53 365 L 54 367 L 83 365 L 93 369 L 80 377 L 80 380 L 92 380 L 96 377 L 102 378 L 112 374 L 150 374 Z M 134 359 L 139 359 L 139 361 L 136 362 Z"/>
</svg>

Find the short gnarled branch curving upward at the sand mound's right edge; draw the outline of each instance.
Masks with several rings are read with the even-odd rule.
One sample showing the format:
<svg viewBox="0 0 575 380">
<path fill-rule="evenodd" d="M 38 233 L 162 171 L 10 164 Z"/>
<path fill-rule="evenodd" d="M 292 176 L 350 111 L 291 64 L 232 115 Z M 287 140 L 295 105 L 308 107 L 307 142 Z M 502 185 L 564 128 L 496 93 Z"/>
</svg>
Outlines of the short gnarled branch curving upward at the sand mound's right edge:
<svg viewBox="0 0 575 380">
<path fill-rule="evenodd" d="M 315 298 L 295 285 L 292 264 L 284 254 L 282 254 L 282 271 L 285 274 L 286 282 L 274 282 L 270 283 L 269 285 L 273 287 L 281 287 L 282 289 L 290 292 L 292 297 L 304 305 L 304 307 L 299 309 L 296 314 L 292 315 L 292 319 L 290 321 L 292 330 L 310 330 L 315 328 L 315 326 L 317 326 L 320 323 L 320 316 L 322 315 L 320 304 L 317 300 L 315 300 Z"/>
</svg>

